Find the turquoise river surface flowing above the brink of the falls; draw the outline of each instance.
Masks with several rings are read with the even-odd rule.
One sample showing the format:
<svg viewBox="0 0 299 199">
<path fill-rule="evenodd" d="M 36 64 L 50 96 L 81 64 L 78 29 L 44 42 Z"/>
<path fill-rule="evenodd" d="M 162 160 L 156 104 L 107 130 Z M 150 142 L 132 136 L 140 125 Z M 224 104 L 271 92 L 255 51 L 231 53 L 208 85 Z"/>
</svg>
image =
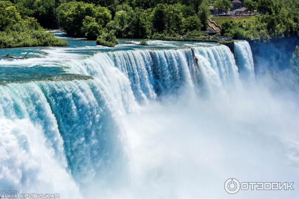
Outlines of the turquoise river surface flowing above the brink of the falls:
<svg viewBox="0 0 299 199">
<path fill-rule="evenodd" d="M 119 39 L 119 45 L 115 48 L 108 48 L 104 46 L 97 46 L 95 41 L 90 41 L 85 38 L 71 38 L 66 37 L 63 32 L 56 32 L 55 35 L 61 39 L 68 41 L 67 47 L 24 47 L 24 48 L 8 48 L 0 49 L 0 55 L 9 54 L 13 57 L 23 57 L 26 53 L 26 59 L 30 58 L 44 58 L 49 53 L 63 52 L 77 55 L 94 55 L 96 53 L 127 51 L 127 50 L 167 50 L 188 48 L 189 46 L 210 45 L 210 44 L 195 44 L 193 42 L 165 42 L 165 41 L 149 41 L 149 45 L 141 46 L 134 44 L 126 44 L 126 41 L 138 43 L 140 40 Z M 2 60 L 2 61 L 1 61 Z M 81 80 L 91 79 L 90 76 L 83 76 L 80 74 L 67 73 L 64 66 L 59 67 L 47 65 L 46 63 L 30 63 L 20 60 L 12 60 L 9 58 L 0 58 L 0 84 L 7 83 L 25 83 L 30 81 L 60 81 L 60 80 Z"/>
</svg>

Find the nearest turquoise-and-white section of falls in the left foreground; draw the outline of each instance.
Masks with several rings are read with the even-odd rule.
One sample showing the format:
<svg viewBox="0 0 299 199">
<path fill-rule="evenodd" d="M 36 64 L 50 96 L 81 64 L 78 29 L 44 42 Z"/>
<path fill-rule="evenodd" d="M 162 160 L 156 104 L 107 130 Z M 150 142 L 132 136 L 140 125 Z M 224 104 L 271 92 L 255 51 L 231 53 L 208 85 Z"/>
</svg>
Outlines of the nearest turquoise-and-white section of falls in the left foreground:
<svg viewBox="0 0 299 199">
<path fill-rule="evenodd" d="M 71 198 L 63 192 L 79 196 L 74 181 L 105 181 L 124 169 L 124 112 L 100 82 L 9 84 L 0 94 L 2 189 Z"/>
</svg>

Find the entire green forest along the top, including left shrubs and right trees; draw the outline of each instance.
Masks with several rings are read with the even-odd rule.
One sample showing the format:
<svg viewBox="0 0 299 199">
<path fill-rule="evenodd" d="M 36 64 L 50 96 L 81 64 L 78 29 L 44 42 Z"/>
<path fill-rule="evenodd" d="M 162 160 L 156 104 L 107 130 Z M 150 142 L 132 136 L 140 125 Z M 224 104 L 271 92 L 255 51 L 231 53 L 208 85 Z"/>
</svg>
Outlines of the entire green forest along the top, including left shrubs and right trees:
<svg viewBox="0 0 299 199">
<path fill-rule="evenodd" d="M 243 4 L 264 14 L 246 24 L 226 21 L 217 35 L 260 41 L 299 35 L 299 0 Z M 45 31 L 57 28 L 107 46 L 116 38 L 201 37 L 209 5 L 232 6 L 230 0 L 0 0 L 0 47 L 66 45 Z"/>
</svg>

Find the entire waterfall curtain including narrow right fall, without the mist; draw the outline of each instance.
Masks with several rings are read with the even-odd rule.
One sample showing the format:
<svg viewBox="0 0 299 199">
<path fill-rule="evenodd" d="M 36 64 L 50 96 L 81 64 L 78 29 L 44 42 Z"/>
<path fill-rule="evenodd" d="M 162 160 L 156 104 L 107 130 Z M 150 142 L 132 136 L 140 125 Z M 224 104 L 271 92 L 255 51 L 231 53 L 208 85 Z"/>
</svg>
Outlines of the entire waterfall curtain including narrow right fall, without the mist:
<svg viewBox="0 0 299 199">
<path fill-rule="evenodd" d="M 80 187 L 117 178 L 128 162 L 126 115 L 150 101 L 226 93 L 239 86 L 239 76 L 254 79 L 249 44 L 236 42 L 235 53 L 237 65 L 224 45 L 48 58 L 94 79 L 0 86 L 0 187 L 68 190 L 63 196 L 72 198 Z"/>
</svg>

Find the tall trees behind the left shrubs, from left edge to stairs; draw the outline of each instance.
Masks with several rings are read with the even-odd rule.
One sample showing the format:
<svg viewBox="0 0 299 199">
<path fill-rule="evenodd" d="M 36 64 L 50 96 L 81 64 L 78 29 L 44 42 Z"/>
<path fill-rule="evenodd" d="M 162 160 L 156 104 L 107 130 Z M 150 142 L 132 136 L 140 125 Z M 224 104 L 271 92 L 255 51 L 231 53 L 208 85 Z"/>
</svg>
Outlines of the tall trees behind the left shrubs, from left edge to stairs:
<svg viewBox="0 0 299 199">
<path fill-rule="evenodd" d="M 62 28 L 69 36 L 108 46 L 117 43 L 116 37 L 200 36 L 210 14 L 208 0 L 10 1 L 23 19 L 33 17 L 44 28 Z"/>
</svg>

